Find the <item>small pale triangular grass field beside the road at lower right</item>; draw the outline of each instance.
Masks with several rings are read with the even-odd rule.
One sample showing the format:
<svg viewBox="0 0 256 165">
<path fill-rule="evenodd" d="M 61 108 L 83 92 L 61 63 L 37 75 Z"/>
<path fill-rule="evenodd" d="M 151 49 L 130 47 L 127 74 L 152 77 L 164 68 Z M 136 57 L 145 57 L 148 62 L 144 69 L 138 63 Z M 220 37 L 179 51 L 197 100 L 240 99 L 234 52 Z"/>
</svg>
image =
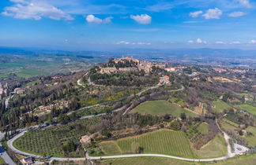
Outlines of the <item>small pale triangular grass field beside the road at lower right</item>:
<svg viewBox="0 0 256 165">
<path fill-rule="evenodd" d="M 212 141 L 205 146 L 203 146 L 200 150 L 194 150 L 199 158 L 214 158 L 221 157 L 227 155 L 227 147 L 225 139 L 220 135 L 216 135 Z"/>
</svg>

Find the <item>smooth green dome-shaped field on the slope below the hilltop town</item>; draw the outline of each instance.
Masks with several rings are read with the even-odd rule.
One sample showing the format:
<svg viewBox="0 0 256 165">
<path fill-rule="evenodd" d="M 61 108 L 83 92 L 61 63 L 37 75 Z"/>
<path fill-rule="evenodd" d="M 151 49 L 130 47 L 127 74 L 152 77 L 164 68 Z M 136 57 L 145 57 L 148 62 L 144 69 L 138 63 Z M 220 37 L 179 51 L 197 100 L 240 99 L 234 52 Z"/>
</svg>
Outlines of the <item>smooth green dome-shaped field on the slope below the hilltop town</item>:
<svg viewBox="0 0 256 165">
<path fill-rule="evenodd" d="M 179 117 L 181 113 L 186 113 L 186 116 L 195 117 L 195 113 L 180 108 L 177 105 L 173 105 L 168 101 L 145 101 L 132 110 L 132 112 L 138 112 L 141 114 L 151 114 L 153 116 L 164 116 L 165 114 L 171 114 L 172 116 Z"/>
</svg>

